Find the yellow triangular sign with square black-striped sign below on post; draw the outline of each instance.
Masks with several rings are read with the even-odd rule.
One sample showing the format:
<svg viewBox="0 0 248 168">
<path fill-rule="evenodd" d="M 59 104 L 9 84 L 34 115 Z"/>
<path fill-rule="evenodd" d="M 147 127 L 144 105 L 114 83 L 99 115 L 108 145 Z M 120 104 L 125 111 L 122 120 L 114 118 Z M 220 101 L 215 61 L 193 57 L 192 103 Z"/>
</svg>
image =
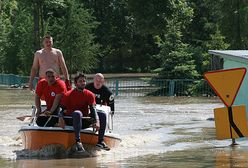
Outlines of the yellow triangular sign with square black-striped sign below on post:
<svg viewBox="0 0 248 168">
<path fill-rule="evenodd" d="M 233 106 L 243 82 L 246 68 L 210 71 L 204 74 L 211 88 L 226 107 L 214 109 L 217 139 L 232 139 L 248 136 L 245 106 Z"/>
</svg>

